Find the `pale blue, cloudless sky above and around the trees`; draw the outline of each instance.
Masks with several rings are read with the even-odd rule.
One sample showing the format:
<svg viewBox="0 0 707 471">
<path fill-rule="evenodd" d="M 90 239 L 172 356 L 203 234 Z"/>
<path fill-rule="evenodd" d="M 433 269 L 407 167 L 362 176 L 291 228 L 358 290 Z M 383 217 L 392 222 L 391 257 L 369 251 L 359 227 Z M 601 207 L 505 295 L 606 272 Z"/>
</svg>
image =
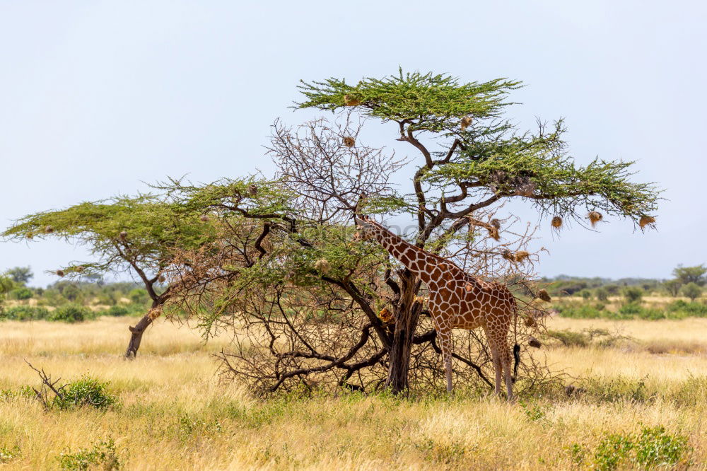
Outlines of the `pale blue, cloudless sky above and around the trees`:
<svg viewBox="0 0 707 471">
<path fill-rule="evenodd" d="M 541 274 L 669 277 L 707 262 L 706 24 L 700 1 L 0 1 L 0 224 L 166 175 L 269 173 L 269 124 L 310 117 L 288 109 L 299 79 L 400 65 L 525 81 L 520 123 L 564 116 L 578 161 L 638 160 L 665 188 L 658 232 L 542 221 Z M 85 258 L 0 243 L 0 270 L 29 264 L 37 285 Z"/>
</svg>

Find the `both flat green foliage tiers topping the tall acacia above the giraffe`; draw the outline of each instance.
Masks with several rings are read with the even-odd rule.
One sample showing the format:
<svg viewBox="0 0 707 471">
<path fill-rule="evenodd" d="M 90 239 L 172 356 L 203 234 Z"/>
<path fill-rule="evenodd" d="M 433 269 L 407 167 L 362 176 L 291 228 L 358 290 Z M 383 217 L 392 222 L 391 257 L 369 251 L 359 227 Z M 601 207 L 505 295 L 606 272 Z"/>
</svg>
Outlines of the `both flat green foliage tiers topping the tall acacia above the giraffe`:
<svg viewBox="0 0 707 471">
<path fill-rule="evenodd" d="M 630 181 L 633 162 L 597 158 L 585 166 L 575 165 L 566 152 L 562 120 L 549 130 L 541 125 L 537 134 L 518 132 L 511 122 L 502 120 L 503 108 L 510 104 L 504 101 L 506 95 L 518 86 L 520 82 L 505 79 L 460 83 L 445 74 L 404 74 L 401 69 L 395 76 L 368 77 L 356 86 L 334 78 L 302 82 L 299 88 L 306 99 L 298 107 L 335 111 L 348 102 L 364 116 L 397 122 L 400 140 L 421 151 L 425 148 L 416 132 L 454 138 L 461 145 L 452 149 L 450 142 L 449 156 L 438 161 L 427 153 L 426 165 L 416 176 L 416 182 L 425 182 L 443 195 L 463 187 L 462 199 L 489 197 L 489 193 L 496 198 L 522 196 L 542 214 L 580 219 L 591 209 L 630 217 L 636 223 L 657 209 L 655 185 Z M 469 118 L 472 124 L 462 126 L 462 120 Z M 431 195 L 426 200 L 431 202 Z M 443 199 L 435 201 L 443 204 Z"/>
</svg>

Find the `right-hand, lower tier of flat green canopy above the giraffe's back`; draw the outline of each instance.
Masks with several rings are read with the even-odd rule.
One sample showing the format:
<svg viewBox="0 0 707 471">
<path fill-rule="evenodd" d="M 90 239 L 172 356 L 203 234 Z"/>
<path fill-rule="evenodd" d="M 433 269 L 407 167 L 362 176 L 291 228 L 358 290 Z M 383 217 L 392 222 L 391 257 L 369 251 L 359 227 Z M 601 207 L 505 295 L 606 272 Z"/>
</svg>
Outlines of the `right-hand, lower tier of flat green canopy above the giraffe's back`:
<svg viewBox="0 0 707 471">
<path fill-rule="evenodd" d="M 464 187 L 486 198 L 523 197 L 541 214 L 584 217 L 585 211 L 628 217 L 638 223 L 658 209 L 652 183 L 631 182 L 634 162 L 593 159 L 577 165 L 562 140 L 562 121 L 549 134 L 472 141 L 423 175 L 442 190 Z"/>
</svg>

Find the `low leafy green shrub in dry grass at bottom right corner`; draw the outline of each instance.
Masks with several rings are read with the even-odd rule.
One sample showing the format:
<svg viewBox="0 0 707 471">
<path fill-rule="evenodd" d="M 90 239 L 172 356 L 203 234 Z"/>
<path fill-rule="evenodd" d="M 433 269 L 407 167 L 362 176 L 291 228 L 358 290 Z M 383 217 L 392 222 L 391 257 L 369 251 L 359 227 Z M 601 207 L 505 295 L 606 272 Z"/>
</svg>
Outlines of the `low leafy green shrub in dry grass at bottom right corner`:
<svg viewBox="0 0 707 471">
<path fill-rule="evenodd" d="M 662 425 L 644 426 L 640 434 L 609 434 L 602 438 L 595 464 L 607 471 L 627 465 L 641 469 L 672 466 L 684 460 L 690 451 L 686 436 L 669 434 Z"/>
</svg>

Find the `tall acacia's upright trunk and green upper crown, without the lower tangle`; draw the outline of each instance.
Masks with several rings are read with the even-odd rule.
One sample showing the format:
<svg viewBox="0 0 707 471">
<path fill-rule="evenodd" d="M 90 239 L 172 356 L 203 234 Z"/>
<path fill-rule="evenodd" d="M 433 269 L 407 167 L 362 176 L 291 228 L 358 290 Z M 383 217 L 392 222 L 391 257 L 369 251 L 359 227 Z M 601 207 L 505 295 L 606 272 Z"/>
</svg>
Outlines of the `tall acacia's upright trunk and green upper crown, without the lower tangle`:
<svg viewBox="0 0 707 471">
<path fill-rule="evenodd" d="M 303 82 L 305 100 L 298 107 L 335 113 L 351 107 L 362 117 L 395 124 L 396 140 L 410 144 L 421 160 L 411 163 L 411 191 L 388 197 L 382 212 L 411 211 L 420 248 L 453 252 L 450 241 L 473 223 L 475 214 L 511 198 L 530 203 L 541 216 L 553 216 L 556 228 L 567 219 L 588 218 L 593 225 L 606 216 L 632 219 L 641 228 L 654 223 L 650 214 L 657 209 L 658 192 L 652 184 L 631 182 L 632 162 L 597 158 L 577 165 L 568 155 L 562 120 L 520 132 L 503 117 L 510 105 L 506 95 L 518 86 L 520 82 L 504 79 L 460 83 L 448 75 L 400 70 L 356 85 L 334 78 Z M 346 195 L 327 187 L 319 191 L 322 199 L 337 199 L 354 211 L 354 201 Z M 395 275 L 386 281 L 399 293 L 392 303 L 395 332 L 386 385 L 397 392 L 408 386 L 422 308 L 412 301 L 419 280 L 407 269 L 396 269 Z"/>
</svg>

